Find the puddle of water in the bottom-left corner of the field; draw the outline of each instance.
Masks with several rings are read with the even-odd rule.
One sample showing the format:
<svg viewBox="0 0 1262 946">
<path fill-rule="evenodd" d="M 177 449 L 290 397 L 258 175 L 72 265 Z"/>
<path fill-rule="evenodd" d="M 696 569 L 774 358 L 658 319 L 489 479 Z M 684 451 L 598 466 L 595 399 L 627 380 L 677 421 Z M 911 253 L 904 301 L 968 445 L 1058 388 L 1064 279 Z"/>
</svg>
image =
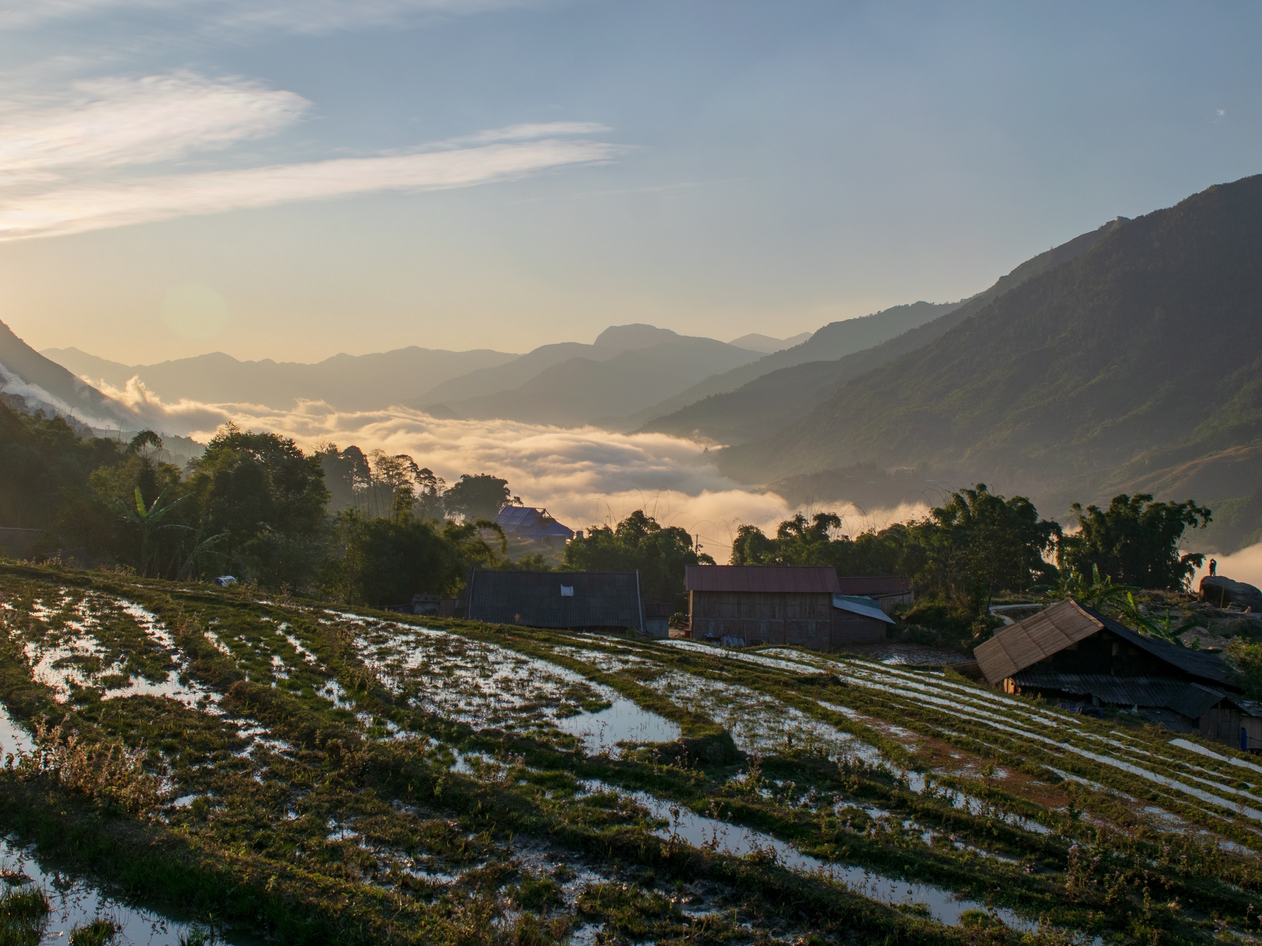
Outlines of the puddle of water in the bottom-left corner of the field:
<svg viewBox="0 0 1262 946">
<path fill-rule="evenodd" d="M 98 917 L 119 927 L 114 942 L 134 946 L 178 946 L 180 937 L 189 932 L 187 923 L 121 903 L 83 880 L 56 870 L 45 872 L 32 851 L 16 848 L 5 839 L 0 839 L 0 868 L 29 877 L 48 897 L 50 911 L 40 943 L 66 943 L 74 927 Z"/>
</svg>

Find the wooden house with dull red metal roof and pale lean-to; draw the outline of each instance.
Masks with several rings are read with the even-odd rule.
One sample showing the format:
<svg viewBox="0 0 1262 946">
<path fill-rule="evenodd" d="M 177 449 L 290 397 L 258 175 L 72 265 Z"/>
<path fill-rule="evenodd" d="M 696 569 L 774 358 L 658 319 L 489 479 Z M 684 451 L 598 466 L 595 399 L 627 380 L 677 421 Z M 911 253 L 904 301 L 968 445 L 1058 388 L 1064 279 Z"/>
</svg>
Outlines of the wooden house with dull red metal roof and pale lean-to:
<svg viewBox="0 0 1262 946">
<path fill-rule="evenodd" d="M 697 641 L 835 651 L 883 641 L 893 623 L 875 599 L 843 594 L 828 566 L 688 565 L 684 587 Z"/>
</svg>

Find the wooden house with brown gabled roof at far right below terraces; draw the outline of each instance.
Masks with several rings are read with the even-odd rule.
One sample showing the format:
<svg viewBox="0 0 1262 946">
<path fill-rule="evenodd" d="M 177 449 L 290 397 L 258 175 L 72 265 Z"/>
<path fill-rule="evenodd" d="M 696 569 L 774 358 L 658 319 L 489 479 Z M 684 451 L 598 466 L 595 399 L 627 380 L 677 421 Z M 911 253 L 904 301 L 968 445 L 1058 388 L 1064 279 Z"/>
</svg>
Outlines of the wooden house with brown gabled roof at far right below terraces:
<svg viewBox="0 0 1262 946">
<path fill-rule="evenodd" d="M 1175 733 L 1262 749 L 1262 705 L 1244 699 L 1220 657 L 1145 637 L 1073 599 L 1002 628 L 974 653 L 1005 692 L 1129 709 Z"/>
</svg>

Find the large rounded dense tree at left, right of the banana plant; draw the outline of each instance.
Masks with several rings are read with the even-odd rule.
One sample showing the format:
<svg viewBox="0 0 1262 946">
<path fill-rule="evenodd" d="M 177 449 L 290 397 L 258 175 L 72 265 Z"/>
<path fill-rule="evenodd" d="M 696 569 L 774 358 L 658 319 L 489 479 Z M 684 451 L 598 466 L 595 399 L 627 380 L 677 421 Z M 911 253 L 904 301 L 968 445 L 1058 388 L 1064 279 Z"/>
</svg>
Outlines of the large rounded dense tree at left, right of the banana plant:
<svg viewBox="0 0 1262 946">
<path fill-rule="evenodd" d="M 186 491 L 202 532 L 223 536 L 218 550 L 235 574 L 293 588 L 316 578 L 329 498 L 318 455 L 228 424 L 193 463 Z"/>
</svg>

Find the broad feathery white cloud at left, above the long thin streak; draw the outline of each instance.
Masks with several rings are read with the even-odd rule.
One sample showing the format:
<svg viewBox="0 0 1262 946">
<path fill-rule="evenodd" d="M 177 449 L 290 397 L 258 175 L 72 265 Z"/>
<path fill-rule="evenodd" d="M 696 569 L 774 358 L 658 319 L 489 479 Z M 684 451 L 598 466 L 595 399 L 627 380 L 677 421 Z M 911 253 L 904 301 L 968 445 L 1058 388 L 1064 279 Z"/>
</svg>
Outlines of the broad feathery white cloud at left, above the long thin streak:
<svg viewBox="0 0 1262 946">
<path fill-rule="evenodd" d="M 0 182 L 220 150 L 276 132 L 309 105 L 294 92 L 188 72 L 80 82 L 0 102 Z"/>
</svg>

